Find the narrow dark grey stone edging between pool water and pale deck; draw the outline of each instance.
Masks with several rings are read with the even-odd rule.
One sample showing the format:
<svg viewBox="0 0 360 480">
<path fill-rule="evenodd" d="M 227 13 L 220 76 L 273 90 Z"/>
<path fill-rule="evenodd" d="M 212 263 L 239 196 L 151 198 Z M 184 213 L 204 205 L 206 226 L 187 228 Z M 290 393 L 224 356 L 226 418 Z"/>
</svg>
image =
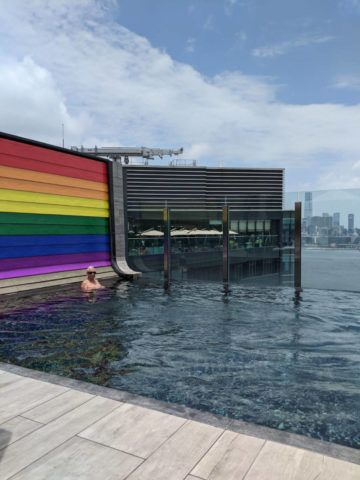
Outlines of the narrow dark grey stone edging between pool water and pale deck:
<svg viewBox="0 0 360 480">
<path fill-rule="evenodd" d="M 75 390 L 90 393 L 92 395 L 98 395 L 101 397 L 110 398 L 112 400 L 138 405 L 150 410 L 157 410 L 177 417 L 186 418 L 187 420 L 194 420 L 236 433 L 282 443 L 360 465 L 360 450 L 356 448 L 325 442 L 323 440 L 317 440 L 311 437 L 285 432 L 283 430 L 276 430 L 273 428 L 244 422 L 242 420 L 232 419 L 222 415 L 196 410 L 194 408 L 184 407 L 179 404 L 143 397 L 125 392 L 123 390 L 102 387 L 100 385 L 95 385 L 85 381 L 75 380 L 69 377 L 61 377 L 38 370 L 20 367 L 10 363 L 0 362 L 0 369 L 6 372 L 21 375 L 23 377 L 29 377 L 35 380 L 73 388 Z"/>
</svg>

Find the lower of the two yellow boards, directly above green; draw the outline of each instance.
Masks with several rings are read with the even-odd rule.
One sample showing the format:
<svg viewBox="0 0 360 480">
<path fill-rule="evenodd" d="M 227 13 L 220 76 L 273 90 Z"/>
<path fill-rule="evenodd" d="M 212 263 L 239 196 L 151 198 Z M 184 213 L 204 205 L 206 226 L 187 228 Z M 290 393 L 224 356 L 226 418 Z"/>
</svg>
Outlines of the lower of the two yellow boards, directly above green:
<svg viewBox="0 0 360 480">
<path fill-rule="evenodd" d="M 9 201 L 0 201 L 0 212 L 76 215 L 79 217 L 109 217 L 109 211 L 104 208 L 71 207 L 63 205 L 46 205 L 42 203 Z"/>
</svg>

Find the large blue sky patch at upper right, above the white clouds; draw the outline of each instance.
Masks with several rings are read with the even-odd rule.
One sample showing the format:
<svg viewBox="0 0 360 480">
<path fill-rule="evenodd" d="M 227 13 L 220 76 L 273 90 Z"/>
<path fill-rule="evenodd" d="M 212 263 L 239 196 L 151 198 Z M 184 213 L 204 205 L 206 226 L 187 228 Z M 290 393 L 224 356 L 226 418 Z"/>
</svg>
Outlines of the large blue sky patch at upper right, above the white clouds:
<svg viewBox="0 0 360 480">
<path fill-rule="evenodd" d="M 120 2 L 116 12 L 127 28 L 204 75 L 265 76 L 284 102 L 358 102 L 335 87 L 338 77 L 360 75 L 358 2 L 137 0 Z"/>
</svg>

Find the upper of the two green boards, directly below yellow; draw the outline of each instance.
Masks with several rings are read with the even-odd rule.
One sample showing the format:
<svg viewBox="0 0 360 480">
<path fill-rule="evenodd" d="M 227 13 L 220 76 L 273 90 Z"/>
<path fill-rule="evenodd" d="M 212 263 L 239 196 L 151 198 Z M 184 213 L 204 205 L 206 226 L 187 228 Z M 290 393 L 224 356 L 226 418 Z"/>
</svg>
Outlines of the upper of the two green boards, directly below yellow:
<svg viewBox="0 0 360 480">
<path fill-rule="evenodd" d="M 109 219 L 104 217 L 81 217 L 76 215 L 40 215 L 35 213 L 0 212 L 0 224 L 1 223 L 15 226 L 19 224 L 27 224 L 29 226 L 92 225 L 106 227 L 107 229 Z M 0 227 L 0 234 L 2 234 L 3 228 L 3 226 Z"/>
</svg>

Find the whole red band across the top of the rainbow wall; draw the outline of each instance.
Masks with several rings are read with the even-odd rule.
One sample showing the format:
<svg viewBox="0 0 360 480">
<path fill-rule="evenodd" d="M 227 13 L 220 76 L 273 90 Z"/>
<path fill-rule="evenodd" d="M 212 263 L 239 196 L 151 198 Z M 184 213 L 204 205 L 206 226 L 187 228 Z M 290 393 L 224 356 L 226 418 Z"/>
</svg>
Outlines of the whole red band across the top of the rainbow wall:
<svg viewBox="0 0 360 480">
<path fill-rule="evenodd" d="M 107 182 L 106 163 L 0 138 L 0 165 Z M 9 163 L 10 162 L 10 163 Z M 25 162 L 25 163 L 24 163 Z"/>
</svg>

